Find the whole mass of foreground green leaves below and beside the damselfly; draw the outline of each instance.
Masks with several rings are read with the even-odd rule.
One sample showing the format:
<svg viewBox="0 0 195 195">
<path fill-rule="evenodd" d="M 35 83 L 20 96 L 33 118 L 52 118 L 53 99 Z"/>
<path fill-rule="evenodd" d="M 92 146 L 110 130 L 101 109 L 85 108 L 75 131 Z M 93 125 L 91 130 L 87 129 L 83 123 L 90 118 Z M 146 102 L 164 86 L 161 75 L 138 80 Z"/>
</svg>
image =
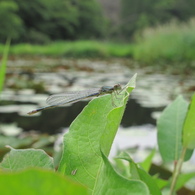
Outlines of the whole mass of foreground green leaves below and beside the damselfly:
<svg viewBox="0 0 195 195">
<path fill-rule="evenodd" d="M 190 106 L 179 96 L 158 120 L 160 154 L 164 162 L 175 165 L 171 180 L 148 173 L 155 150 L 142 163 L 135 163 L 128 153 L 122 152 L 117 157 L 115 169 L 108 160 L 125 105 L 135 88 L 135 79 L 136 75 L 121 92 L 120 98 L 102 96 L 84 108 L 64 135 L 63 153 L 56 172 L 55 159 L 43 150 L 14 149 L 9 146 L 11 151 L 0 163 L 1 183 L 9 181 L 9 187 L 1 185 L 1 192 L 161 195 L 169 190 L 170 195 L 175 194 L 195 176 L 195 172 L 180 174 L 183 162 L 190 159 L 195 148 L 195 96 Z"/>
</svg>

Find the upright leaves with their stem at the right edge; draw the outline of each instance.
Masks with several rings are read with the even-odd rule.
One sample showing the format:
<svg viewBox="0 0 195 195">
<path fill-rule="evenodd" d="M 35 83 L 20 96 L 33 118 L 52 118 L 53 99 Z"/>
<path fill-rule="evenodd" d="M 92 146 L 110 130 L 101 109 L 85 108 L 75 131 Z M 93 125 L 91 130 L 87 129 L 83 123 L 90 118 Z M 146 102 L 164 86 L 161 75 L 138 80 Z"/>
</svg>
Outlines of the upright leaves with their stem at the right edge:
<svg viewBox="0 0 195 195">
<path fill-rule="evenodd" d="M 194 174 L 184 174 L 180 176 L 183 162 L 191 157 L 193 149 L 195 148 L 194 102 L 195 95 L 192 97 L 190 106 L 188 106 L 187 102 L 185 102 L 181 96 L 178 97 L 164 110 L 157 122 L 158 145 L 162 158 L 165 161 L 174 162 L 170 194 L 174 193 L 177 180 L 180 182 L 179 185 L 181 186 L 181 181 L 185 183 L 189 178 L 194 177 Z M 183 180 L 180 177 L 182 177 Z"/>
</svg>

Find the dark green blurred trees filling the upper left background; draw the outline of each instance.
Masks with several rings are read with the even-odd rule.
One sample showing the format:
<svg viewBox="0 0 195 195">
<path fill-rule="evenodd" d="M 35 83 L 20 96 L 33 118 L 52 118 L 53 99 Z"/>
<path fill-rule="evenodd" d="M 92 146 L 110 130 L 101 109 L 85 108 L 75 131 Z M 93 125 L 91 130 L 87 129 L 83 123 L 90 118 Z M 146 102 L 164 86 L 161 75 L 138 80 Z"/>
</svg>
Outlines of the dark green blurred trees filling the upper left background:
<svg viewBox="0 0 195 195">
<path fill-rule="evenodd" d="M 0 41 L 48 43 L 50 40 L 99 38 L 105 31 L 96 0 L 1 0 Z"/>
</svg>

